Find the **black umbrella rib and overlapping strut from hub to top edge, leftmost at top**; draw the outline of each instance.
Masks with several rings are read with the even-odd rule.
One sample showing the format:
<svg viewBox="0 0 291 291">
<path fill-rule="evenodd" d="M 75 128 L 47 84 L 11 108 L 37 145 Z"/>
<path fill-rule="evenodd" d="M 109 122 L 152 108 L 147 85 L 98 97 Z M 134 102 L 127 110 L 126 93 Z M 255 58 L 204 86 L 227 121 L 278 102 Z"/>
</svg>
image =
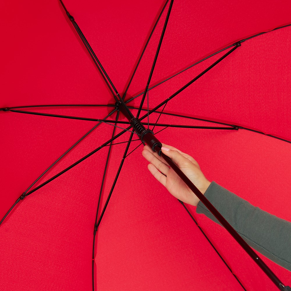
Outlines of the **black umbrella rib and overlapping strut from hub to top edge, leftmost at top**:
<svg viewBox="0 0 291 291">
<path fill-rule="evenodd" d="M 66 12 L 68 18 L 69 18 L 69 20 L 72 22 L 72 24 L 73 24 L 75 30 L 77 31 L 79 37 L 81 38 L 81 40 L 82 40 L 84 46 L 86 47 L 86 50 L 87 50 L 88 53 L 90 54 L 90 56 L 91 56 L 91 58 L 92 58 L 92 60 L 93 60 L 93 62 L 94 62 L 94 64 L 95 64 L 95 66 L 97 67 L 98 71 L 100 72 L 100 74 L 101 74 L 101 76 L 103 77 L 104 81 L 106 82 L 106 84 L 107 84 L 109 90 L 111 91 L 111 93 L 112 93 L 114 99 L 115 99 L 116 102 L 117 102 L 118 99 L 117 99 L 116 95 L 114 94 L 113 90 L 115 91 L 115 93 L 116 93 L 117 95 L 118 95 L 118 92 L 116 91 L 116 88 L 114 87 L 114 85 L 113 85 L 111 79 L 110 79 L 109 76 L 107 75 L 106 71 L 104 70 L 103 66 L 101 65 L 100 61 L 98 60 L 98 58 L 97 58 L 96 54 L 94 53 L 92 47 L 89 45 L 89 42 L 88 42 L 87 39 L 85 38 L 85 36 L 84 36 L 84 34 L 82 33 L 81 29 L 79 28 L 78 24 L 75 22 L 74 17 L 73 17 L 72 15 L 70 15 L 70 13 L 68 12 L 67 8 L 65 7 L 63 1 L 60 0 L 60 2 L 61 2 L 61 4 L 62 4 L 62 6 L 63 6 L 63 8 L 64 8 L 64 10 L 65 10 L 65 12 Z M 112 86 L 113 90 L 112 90 L 112 88 L 111 88 L 111 86 L 109 85 L 108 82 L 109 82 L 110 85 Z"/>
</svg>

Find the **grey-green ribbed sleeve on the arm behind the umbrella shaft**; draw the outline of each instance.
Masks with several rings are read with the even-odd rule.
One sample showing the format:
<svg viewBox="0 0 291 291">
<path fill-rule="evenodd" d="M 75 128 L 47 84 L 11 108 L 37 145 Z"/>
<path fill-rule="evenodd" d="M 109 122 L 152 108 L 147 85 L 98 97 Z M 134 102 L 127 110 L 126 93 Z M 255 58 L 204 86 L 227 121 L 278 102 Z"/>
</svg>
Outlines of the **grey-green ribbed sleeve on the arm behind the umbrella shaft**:
<svg viewBox="0 0 291 291">
<path fill-rule="evenodd" d="M 291 271 L 291 222 L 251 205 L 215 182 L 204 195 L 251 247 Z M 202 202 L 196 212 L 219 223 Z"/>
</svg>

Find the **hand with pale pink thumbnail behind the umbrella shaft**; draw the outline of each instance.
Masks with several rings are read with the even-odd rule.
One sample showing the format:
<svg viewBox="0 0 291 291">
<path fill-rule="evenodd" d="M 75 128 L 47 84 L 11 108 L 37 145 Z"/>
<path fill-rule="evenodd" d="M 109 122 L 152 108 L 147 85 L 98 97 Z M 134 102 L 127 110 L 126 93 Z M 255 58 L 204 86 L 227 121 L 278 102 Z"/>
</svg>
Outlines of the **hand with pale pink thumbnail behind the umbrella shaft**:
<svg viewBox="0 0 291 291">
<path fill-rule="evenodd" d="M 198 163 L 184 152 L 170 145 L 162 145 L 162 152 L 170 157 L 199 191 L 204 194 L 210 182 L 203 175 Z M 148 145 L 145 145 L 143 148 L 142 155 L 150 162 L 150 164 L 148 164 L 148 169 L 152 175 L 164 185 L 173 196 L 187 204 L 197 206 L 199 202 L 198 197 L 189 189 L 176 172 L 168 166 L 162 157 L 156 152 L 153 152 Z"/>
</svg>

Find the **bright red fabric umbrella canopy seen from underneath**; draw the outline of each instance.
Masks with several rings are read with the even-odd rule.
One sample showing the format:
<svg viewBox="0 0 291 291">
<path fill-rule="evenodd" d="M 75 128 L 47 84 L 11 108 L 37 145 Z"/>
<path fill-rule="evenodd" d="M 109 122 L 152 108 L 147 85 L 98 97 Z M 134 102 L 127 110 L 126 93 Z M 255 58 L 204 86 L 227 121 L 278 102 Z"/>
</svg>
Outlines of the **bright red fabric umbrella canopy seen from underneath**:
<svg viewBox="0 0 291 291">
<path fill-rule="evenodd" d="M 170 3 L 64 4 L 136 116 Z M 159 140 L 209 180 L 288 221 L 290 6 L 175 0 L 140 114 L 155 109 Z M 0 226 L 1 290 L 91 290 L 92 262 L 97 290 L 274 290 L 226 230 L 187 206 L 203 234 L 152 178 L 136 134 L 128 143 L 130 132 L 99 124 L 126 118 L 61 4 L 6 1 L 1 14 L 1 218 L 18 201 Z M 290 271 L 264 260 L 290 285 Z"/>
</svg>

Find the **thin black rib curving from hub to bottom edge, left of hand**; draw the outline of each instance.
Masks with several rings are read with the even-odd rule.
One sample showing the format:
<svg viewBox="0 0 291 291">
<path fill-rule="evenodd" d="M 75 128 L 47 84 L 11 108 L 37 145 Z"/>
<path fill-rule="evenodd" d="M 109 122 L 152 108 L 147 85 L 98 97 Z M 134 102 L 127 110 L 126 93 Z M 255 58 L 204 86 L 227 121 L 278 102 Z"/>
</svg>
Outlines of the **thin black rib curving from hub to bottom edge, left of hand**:
<svg viewBox="0 0 291 291">
<path fill-rule="evenodd" d="M 116 114 L 116 118 L 115 120 L 117 121 L 119 117 L 119 111 Z M 116 125 L 116 124 L 115 124 Z M 116 132 L 116 128 L 113 128 L 113 132 L 112 132 L 112 136 L 111 138 L 114 137 Z M 108 150 L 108 154 L 107 154 L 107 159 L 106 159 L 106 164 L 105 164 L 105 168 L 104 168 L 104 173 L 103 173 L 103 178 L 102 178 L 102 183 L 101 183 L 101 187 L 100 187 L 100 193 L 99 193 L 99 198 L 98 198 L 98 205 L 97 205 L 97 211 L 96 211 L 96 217 L 95 217 L 95 223 L 94 223 L 94 233 L 93 233 L 93 251 L 92 251 L 92 286 L 93 286 L 93 291 L 94 291 L 94 253 L 95 253 L 95 239 L 96 239 L 96 232 L 97 232 L 97 219 L 98 219 L 98 213 L 100 210 L 100 203 L 101 203 L 101 196 L 102 196 L 102 192 L 103 192 L 103 186 L 104 186 L 104 182 L 105 182 L 105 177 L 107 174 L 107 169 L 108 169 L 108 163 L 109 163 L 109 157 L 111 154 L 111 149 L 112 149 L 112 141 L 109 145 L 109 150 Z"/>
</svg>

